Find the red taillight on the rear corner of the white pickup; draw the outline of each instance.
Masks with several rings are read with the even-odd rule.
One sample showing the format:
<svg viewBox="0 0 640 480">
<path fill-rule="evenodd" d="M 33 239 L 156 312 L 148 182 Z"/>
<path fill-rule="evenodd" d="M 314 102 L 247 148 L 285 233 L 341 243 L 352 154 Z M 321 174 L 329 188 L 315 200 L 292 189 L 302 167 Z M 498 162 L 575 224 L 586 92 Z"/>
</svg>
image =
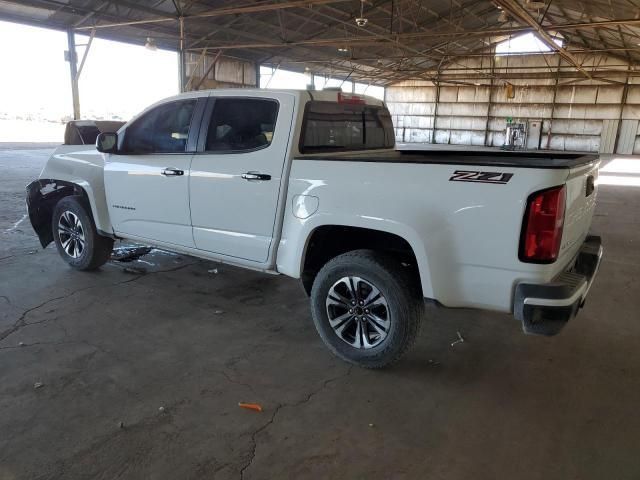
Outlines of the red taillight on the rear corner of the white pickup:
<svg viewBox="0 0 640 480">
<path fill-rule="evenodd" d="M 529 196 L 520 241 L 520 260 L 523 262 L 552 263 L 558 258 L 565 195 L 563 185 Z"/>
</svg>

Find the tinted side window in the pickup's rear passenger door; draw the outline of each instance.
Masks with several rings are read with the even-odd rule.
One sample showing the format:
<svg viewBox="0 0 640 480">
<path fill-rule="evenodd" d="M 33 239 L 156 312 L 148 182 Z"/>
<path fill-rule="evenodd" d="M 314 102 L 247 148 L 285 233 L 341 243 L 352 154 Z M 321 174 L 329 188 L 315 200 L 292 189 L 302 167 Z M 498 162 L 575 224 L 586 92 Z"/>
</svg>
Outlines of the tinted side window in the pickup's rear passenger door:
<svg viewBox="0 0 640 480">
<path fill-rule="evenodd" d="M 217 98 L 207 132 L 208 151 L 242 152 L 271 144 L 278 103 L 257 98 Z"/>
</svg>

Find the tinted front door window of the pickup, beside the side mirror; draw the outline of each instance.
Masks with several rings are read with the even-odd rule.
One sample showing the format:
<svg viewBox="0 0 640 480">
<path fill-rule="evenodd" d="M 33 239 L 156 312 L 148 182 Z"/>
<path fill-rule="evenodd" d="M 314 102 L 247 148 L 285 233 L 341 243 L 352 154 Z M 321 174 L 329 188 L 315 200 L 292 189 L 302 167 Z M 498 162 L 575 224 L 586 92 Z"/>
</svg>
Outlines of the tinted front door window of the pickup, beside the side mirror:
<svg viewBox="0 0 640 480">
<path fill-rule="evenodd" d="M 130 153 L 184 152 L 196 100 L 172 102 L 154 108 L 127 127 L 124 151 Z"/>
</svg>

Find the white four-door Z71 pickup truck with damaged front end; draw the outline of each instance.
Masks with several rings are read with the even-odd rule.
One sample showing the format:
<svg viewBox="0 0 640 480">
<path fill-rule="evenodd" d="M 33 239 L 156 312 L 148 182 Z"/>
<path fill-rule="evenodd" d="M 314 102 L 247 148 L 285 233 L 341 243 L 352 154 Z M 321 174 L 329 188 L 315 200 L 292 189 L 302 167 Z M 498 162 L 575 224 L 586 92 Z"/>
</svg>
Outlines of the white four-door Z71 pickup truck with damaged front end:
<svg viewBox="0 0 640 480">
<path fill-rule="evenodd" d="M 163 100 L 96 146 L 60 146 L 27 203 L 43 247 L 78 270 L 128 239 L 300 278 L 329 349 L 378 368 L 414 342 L 425 299 L 557 333 L 602 255 L 589 235 L 598 167 L 396 151 L 381 101 L 214 90 Z"/>
</svg>

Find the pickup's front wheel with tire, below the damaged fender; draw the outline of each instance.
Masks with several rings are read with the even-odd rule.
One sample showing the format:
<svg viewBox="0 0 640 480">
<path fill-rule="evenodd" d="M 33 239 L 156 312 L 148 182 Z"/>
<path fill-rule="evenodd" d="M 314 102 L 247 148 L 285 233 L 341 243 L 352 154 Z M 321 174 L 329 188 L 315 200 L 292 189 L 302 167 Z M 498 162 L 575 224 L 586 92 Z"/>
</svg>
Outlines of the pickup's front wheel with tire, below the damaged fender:
<svg viewBox="0 0 640 480">
<path fill-rule="evenodd" d="M 95 270 L 111 255 L 113 239 L 98 234 L 82 197 L 61 199 L 53 211 L 51 228 L 58 253 L 76 270 Z"/>
</svg>

